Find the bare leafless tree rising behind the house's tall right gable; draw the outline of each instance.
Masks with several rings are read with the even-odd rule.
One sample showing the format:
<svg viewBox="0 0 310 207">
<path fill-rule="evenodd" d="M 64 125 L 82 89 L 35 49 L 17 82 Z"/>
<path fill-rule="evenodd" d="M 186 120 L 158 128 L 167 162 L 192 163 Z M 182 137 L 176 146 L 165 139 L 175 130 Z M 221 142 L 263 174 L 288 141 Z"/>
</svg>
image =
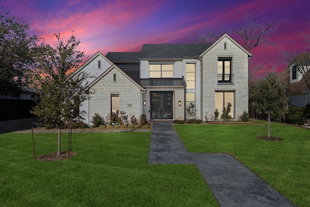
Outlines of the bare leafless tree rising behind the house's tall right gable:
<svg viewBox="0 0 310 207">
<path fill-rule="evenodd" d="M 288 18 L 283 18 L 277 15 L 268 18 L 263 15 L 247 13 L 244 16 L 244 20 L 236 28 L 222 28 L 220 31 L 211 29 L 210 31 L 196 33 L 198 35 L 197 42 L 214 43 L 224 33 L 228 33 L 231 36 L 236 36 L 237 40 L 240 40 L 240 45 L 249 51 L 259 45 L 273 44 L 269 40 L 270 36 L 278 31 L 279 26 L 288 21 Z"/>
</svg>

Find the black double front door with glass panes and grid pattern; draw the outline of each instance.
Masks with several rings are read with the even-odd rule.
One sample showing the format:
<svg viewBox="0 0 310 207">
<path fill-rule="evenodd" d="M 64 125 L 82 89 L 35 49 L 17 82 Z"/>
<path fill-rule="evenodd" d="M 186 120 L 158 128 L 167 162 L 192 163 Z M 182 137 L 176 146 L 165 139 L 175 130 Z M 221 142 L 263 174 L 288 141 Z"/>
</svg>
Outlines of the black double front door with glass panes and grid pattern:
<svg viewBox="0 0 310 207">
<path fill-rule="evenodd" d="M 151 92 L 151 119 L 173 119 L 172 92 Z"/>
</svg>

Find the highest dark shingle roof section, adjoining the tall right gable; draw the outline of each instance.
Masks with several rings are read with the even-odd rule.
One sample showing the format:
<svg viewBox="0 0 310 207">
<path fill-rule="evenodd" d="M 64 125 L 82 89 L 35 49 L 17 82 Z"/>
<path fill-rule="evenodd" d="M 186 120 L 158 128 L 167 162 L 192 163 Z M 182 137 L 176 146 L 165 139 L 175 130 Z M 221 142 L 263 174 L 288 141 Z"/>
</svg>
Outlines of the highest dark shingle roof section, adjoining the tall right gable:
<svg viewBox="0 0 310 207">
<path fill-rule="evenodd" d="M 212 44 L 156 44 L 143 45 L 142 59 L 173 59 L 184 57 L 196 57 L 202 54 Z"/>
</svg>

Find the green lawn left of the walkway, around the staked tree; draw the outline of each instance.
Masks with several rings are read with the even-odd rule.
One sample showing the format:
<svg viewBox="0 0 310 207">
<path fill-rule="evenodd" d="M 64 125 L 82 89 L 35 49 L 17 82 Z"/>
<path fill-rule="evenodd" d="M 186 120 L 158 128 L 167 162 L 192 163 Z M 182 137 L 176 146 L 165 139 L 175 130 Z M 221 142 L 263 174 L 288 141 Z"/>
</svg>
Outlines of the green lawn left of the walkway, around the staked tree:
<svg viewBox="0 0 310 207">
<path fill-rule="evenodd" d="M 33 159 L 31 134 L 0 135 L 0 206 L 218 206 L 195 165 L 148 165 L 151 133 L 74 133 L 77 156 Z M 35 134 L 36 156 L 57 134 Z M 62 134 L 62 150 L 67 134 Z"/>
</svg>

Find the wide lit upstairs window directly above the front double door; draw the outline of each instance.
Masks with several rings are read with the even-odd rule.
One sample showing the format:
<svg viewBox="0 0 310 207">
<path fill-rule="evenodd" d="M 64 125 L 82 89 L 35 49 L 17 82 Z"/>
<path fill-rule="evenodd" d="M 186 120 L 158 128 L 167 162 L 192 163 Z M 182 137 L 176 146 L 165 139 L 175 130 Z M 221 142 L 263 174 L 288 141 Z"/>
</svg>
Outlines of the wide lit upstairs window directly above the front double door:
<svg viewBox="0 0 310 207">
<path fill-rule="evenodd" d="M 173 64 L 150 64 L 150 78 L 173 78 Z"/>
</svg>

